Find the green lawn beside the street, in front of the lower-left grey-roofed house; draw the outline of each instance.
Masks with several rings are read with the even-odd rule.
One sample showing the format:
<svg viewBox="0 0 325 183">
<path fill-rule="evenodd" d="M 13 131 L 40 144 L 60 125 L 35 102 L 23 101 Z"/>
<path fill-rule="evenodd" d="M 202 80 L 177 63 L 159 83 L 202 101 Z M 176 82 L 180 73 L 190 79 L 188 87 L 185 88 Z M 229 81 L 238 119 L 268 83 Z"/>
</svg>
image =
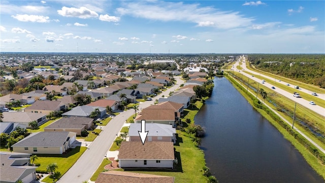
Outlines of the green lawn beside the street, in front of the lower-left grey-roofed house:
<svg viewBox="0 0 325 183">
<path fill-rule="evenodd" d="M 77 146 L 76 148 L 70 150 L 67 154 L 63 155 L 37 155 L 38 160 L 36 163 L 40 163 L 41 166 L 36 169 L 36 171 L 46 171 L 46 167 L 50 163 L 56 163 L 58 168 L 55 171 L 59 171 L 62 175 L 66 173 L 73 164 L 79 159 L 79 157 L 84 153 L 86 147 Z M 53 182 L 49 177 L 45 177 L 43 182 Z"/>
</svg>

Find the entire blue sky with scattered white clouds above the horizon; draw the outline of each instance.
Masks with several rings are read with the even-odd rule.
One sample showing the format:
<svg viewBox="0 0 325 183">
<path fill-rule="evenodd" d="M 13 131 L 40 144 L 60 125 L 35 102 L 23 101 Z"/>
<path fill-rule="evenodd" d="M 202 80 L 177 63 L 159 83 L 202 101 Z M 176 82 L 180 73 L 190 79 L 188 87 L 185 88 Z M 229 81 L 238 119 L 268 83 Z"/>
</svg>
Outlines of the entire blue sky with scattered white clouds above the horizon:
<svg viewBox="0 0 325 183">
<path fill-rule="evenodd" d="M 0 51 L 325 53 L 325 1 L 1 1 Z"/>
</svg>

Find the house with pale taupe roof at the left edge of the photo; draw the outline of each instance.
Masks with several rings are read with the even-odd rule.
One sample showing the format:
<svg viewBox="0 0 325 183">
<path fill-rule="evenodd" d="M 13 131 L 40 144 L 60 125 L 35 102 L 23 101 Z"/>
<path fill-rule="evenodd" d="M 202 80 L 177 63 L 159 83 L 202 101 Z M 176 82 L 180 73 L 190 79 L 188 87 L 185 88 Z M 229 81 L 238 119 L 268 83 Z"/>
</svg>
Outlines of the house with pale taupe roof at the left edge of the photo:
<svg viewBox="0 0 325 183">
<path fill-rule="evenodd" d="M 29 127 L 31 121 L 37 121 L 38 126 L 44 124 L 46 119 L 46 113 L 35 112 L 3 112 L 3 121 L 10 123 L 19 123 L 26 127 Z"/>
</svg>

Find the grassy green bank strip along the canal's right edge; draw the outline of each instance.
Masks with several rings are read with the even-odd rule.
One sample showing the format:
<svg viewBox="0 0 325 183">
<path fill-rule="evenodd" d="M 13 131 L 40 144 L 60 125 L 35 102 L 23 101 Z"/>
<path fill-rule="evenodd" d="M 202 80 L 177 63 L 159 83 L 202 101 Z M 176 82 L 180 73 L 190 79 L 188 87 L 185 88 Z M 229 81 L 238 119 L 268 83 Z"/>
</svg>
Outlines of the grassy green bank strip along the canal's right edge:
<svg viewBox="0 0 325 183">
<path fill-rule="evenodd" d="M 323 178 L 325 179 L 325 155 L 318 150 L 311 142 L 300 135 L 297 131 L 293 130 L 290 125 L 285 123 L 278 115 L 276 115 L 267 106 L 263 105 L 261 101 L 256 99 L 256 96 L 248 92 L 248 87 L 243 87 L 240 83 L 236 82 L 234 78 L 226 75 L 239 92 L 248 100 L 248 102 L 270 123 L 276 127 L 279 132 L 289 140 L 302 154 L 307 163 Z M 271 103 L 266 101 L 270 106 Z"/>
</svg>

